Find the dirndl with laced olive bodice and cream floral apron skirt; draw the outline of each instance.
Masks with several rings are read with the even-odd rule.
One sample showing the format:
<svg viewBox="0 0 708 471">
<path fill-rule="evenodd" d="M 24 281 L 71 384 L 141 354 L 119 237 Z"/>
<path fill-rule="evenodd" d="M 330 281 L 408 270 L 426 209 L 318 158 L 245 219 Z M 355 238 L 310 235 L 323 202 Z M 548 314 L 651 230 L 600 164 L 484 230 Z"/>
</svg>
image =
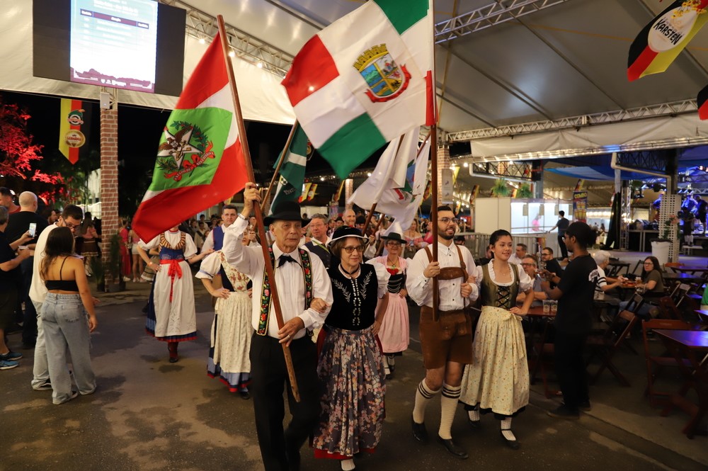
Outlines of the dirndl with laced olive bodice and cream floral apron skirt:
<svg viewBox="0 0 708 471">
<path fill-rule="evenodd" d="M 520 266 L 509 263 L 512 280 L 498 283 L 493 263 L 477 268 L 482 312 L 474 334 L 473 361 L 462 377 L 460 402 L 479 404 L 497 419 L 515 416 L 529 402 L 529 370 L 521 319 L 509 312 L 516 295 L 533 285 Z"/>
</svg>

